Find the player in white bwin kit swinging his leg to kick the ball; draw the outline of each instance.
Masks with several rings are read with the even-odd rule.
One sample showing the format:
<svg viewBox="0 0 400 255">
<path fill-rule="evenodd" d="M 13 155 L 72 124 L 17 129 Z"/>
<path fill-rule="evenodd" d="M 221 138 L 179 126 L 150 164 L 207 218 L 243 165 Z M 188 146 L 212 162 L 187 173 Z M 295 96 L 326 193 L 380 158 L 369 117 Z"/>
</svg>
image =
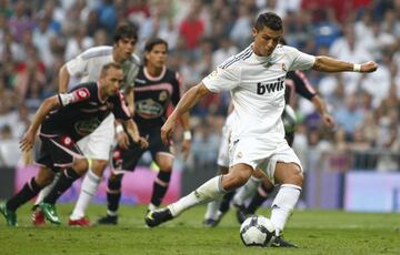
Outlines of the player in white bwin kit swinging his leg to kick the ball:
<svg viewBox="0 0 400 255">
<path fill-rule="evenodd" d="M 242 186 L 256 169 L 280 184 L 272 203 L 270 220 L 276 228 L 271 246 L 297 247 L 284 241 L 281 233 L 299 200 L 303 182 L 299 159 L 284 140 L 281 114 L 284 108 L 284 78 L 290 70 L 324 72 L 373 72 L 373 61 L 362 64 L 343 62 L 329 57 L 313 57 L 278 44 L 283 35 L 282 20 L 272 12 L 261 13 L 252 29 L 253 42 L 241 53 L 223 62 L 181 98 L 161 129 L 168 141 L 176 121 L 208 93 L 230 90 L 234 123 L 230 141 L 230 171 L 216 176 L 168 207 L 150 212 L 146 223 L 154 227 L 183 211 L 214 200 Z"/>
</svg>

